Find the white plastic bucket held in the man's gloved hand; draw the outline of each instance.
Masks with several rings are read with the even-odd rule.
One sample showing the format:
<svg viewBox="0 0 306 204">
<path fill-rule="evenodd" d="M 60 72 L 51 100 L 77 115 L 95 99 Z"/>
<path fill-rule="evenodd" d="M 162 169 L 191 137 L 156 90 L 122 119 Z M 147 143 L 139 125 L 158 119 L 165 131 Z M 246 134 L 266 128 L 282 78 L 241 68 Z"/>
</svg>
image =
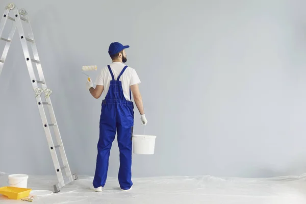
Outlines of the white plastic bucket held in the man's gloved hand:
<svg viewBox="0 0 306 204">
<path fill-rule="evenodd" d="M 153 155 L 155 150 L 154 135 L 133 135 L 133 153 L 139 155 Z"/>
</svg>

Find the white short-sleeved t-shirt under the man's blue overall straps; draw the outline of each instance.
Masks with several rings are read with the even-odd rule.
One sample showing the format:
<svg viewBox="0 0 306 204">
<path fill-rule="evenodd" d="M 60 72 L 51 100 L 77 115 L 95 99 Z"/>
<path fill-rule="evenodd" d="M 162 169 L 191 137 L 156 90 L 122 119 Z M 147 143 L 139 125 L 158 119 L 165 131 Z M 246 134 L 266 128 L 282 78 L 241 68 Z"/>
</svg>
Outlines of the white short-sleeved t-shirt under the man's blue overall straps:
<svg viewBox="0 0 306 204">
<path fill-rule="evenodd" d="M 119 74 L 121 73 L 123 67 L 125 64 L 121 62 L 113 62 L 110 64 L 111 70 L 114 74 L 115 80 L 117 80 Z M 95 80 L 96 85 L 103 85 L 104 86 L 104 95 L 106 96 L 109 87 L 110 87 L 110 81 L 112 80 L 112 75 L 108 69 L 108 66 L 105 66 L 101 71 L 100 74 L 97 76 Z M 122 90 L 124 97 L 126 100 L 131 101 L 130 99 L 130 86 L 139 84 L 140 79 L 136 73 L 136 70 L 132 67 L 126 67 L 125 71 L 121 75 L 119 81 L 121 81 L 122 84 Z M 131 92 L 132 94 L 132 92 Z M 131 96 L 132 97 L 132 96 Z"/>
</svg>

